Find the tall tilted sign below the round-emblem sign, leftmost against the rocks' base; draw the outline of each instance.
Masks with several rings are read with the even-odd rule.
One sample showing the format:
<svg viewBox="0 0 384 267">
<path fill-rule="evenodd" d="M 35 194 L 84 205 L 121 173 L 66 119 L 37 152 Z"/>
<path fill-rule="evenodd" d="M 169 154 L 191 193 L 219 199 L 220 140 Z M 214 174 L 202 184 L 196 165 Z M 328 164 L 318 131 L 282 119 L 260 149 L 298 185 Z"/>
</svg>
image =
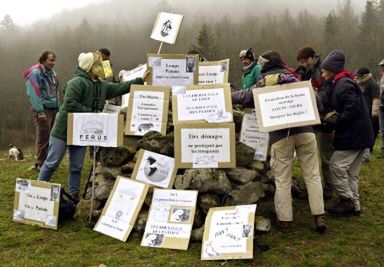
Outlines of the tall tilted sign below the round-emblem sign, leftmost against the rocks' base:
<svg viewBox="0 0 384 267">
<path fill-rule="evenodd" d="M 118 176 L 93 230 L 127 241 L 148 192 L 148 185 Z"/>
</svg>

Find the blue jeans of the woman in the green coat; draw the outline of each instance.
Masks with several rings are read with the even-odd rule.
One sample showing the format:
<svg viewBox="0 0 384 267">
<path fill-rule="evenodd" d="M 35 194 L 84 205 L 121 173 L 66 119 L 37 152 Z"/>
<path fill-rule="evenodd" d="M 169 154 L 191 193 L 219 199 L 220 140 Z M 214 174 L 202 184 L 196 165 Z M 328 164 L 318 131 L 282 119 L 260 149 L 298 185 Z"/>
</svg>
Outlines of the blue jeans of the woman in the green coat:
<svg viewBox="0 0 384 267">
<path fill-rule="evenodd" d="M 87 150 L 85 146 L 67 146 L 64 140 L 51 136 L 49 138 L 48 156 L 41 167 L 38 180 L 46 182 L 51 180 L 53 173 L 64 158 L 67 147 L 69 153 L 68 191 L 70 194 L 79 193 L 81 171 Z"/>
</svg>

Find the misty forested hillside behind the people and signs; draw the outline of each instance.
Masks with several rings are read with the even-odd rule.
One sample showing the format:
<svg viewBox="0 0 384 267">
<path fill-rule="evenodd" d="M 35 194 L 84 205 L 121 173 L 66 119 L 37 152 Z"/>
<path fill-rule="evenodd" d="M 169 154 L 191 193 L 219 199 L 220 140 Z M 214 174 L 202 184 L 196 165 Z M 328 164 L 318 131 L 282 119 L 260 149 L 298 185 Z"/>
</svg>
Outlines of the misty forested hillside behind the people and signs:
<svg viewBox="0 0 384 267">
<path fill-rule="evenodd" d="M 384 0 L 366 1 L 362 12 L 354 10 L 351 0 L 344 0 L 326 15 L 312 9 L 292 12 L 287 8 L 277 12 L 271 6 L 270 12 L 258 12 L 255 8 L 247 15 L 215 13 L 214 16 L 203 7 L 202 12 L 188 12 L 180 1 L 171 4 L 163 0 L 152 7 L 136 7 L 133 2 L 103 2 L 93 9 L 76 11 L 77 16 L 64 11 L 30 27 L 18 26 L 8 15 L 0 19 L 0 150 L 6 149 L 8 143 L 18 146 L 34 143 L 35 127 L 22 73 L 36 64 L 42 50 L 50 49 L 57 55 L 55 69 L 61 91 L 72 77 L 81 52 L 107 47 L 117 74 L 145 63 L 147 53 L 157 52 L 159 42 L 149 36 L 160 11 L 185 16 L 176 44 L 164 44 L 162 53 L 187 53 L 196 48 L 208 60 L 230 58 L 229 79 L 237 88 L 242 75 L 238 54 L 250 47 L 256 55 L 277 49 L 292 67 L 297 67 L 296 51 L 303 45 L 313 46 L 322 58 L 333 49 L 341 49 L 346 55 L 347 69 L 366 66 L 374 75 L 377 75 L 377 63 L 384 58 Z M 236 8 L 237 1 L 232 2 Z M 125 14 L 122 8 L 126 15 L 122 15 Z M 135 10 L 132 17 L 130 8 Z M 111 9 L 120 11 L 109 12 L 115 14 L 115 19 L 101 15 L 97 19 L 97 14 Z M 72 16 L 82 18 L 76 23 Z"/>
</svg>

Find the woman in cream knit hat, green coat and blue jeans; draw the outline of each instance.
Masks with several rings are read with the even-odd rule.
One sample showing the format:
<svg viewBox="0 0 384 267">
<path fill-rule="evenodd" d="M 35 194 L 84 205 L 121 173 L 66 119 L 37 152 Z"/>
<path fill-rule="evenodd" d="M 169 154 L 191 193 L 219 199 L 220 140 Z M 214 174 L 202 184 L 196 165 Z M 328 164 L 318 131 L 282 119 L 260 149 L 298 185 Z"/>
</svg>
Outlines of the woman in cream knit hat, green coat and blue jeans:
<svg viewBox="0 0 384 267">
<path fill-rule="evenodd" d="M 57 114 L 49 139 L 48 157 L 38 177 L 39 181 L 50 181 L 68 147 L 69 193 L 77 199 L 86 147 L 67 146 L 68 113 L 101 112 L 106 99 L 129 93 L 132 84 L 143 84 L 149 74 L 147 71 L 142 78 L 123 83 L 110 83 L 102 79 L 104 69 L 100 52 L 81 53 L 78 60 L 75 76 L 66 84 L 64 102 Z"/>
</svg>

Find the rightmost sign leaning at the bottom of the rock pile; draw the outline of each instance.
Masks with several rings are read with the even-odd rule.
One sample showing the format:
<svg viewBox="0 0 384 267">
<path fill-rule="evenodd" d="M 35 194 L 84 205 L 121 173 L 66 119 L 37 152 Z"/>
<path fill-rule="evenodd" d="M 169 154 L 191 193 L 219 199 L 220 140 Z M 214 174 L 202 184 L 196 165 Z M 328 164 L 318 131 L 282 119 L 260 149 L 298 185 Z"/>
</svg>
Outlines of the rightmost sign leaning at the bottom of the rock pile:
<svg viewBox="0 0 384 267">
<path fill-rule="evenodd" d="M 202 260 L 252 259 L 256 205 L 209 209 Z"/>
</svg>

